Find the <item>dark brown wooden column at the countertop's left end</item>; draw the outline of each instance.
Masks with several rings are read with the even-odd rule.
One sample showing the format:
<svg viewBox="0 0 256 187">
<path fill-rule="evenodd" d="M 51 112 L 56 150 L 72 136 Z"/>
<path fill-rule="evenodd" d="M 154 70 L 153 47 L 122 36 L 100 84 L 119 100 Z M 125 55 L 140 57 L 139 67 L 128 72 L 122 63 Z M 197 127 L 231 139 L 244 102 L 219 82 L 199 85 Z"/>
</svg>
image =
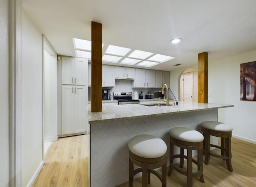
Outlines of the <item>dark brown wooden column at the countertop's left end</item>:
<svg viewBox="0 0 256 187">
<path fill-rule="evenodd" d="M 102 24 L 92 22 L 91 111 L 102 111 Z"/>
</svg>

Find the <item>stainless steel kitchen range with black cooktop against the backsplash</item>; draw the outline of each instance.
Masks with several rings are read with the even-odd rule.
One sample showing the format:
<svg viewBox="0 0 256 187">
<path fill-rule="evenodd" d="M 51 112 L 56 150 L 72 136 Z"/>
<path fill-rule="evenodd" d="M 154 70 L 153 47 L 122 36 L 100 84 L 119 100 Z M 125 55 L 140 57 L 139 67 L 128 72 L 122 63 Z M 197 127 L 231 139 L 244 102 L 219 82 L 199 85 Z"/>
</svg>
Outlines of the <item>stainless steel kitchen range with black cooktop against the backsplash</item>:
<svg viewBox="0 0 256 187">
<path fill-rule="evenodd" d="M 132 99 L 132 92 L 114 92 L 114 100 L 118 101 L 118 105 L 137 104 L 139 99 Z"/>
</svg>

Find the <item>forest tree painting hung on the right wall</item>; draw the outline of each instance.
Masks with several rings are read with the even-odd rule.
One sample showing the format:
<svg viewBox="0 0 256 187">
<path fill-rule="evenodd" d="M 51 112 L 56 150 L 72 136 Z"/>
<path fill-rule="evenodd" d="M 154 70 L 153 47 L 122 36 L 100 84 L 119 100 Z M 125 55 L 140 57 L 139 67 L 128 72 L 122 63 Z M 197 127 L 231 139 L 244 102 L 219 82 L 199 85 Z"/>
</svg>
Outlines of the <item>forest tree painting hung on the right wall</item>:
<svg viewBox="0 0 256 187">
<path fill-rule="evenodd" d="M 240 100 L 256 101 L 256 61 L 240 64 Z"/>
</svg>

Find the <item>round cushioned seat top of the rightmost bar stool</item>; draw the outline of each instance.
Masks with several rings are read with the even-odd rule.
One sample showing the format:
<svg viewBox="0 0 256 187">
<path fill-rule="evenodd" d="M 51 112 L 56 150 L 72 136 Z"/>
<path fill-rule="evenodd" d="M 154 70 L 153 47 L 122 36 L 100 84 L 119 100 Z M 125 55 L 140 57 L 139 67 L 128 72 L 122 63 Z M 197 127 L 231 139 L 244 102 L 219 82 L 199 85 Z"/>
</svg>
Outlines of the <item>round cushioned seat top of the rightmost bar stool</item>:
<svg viewBox="0 0 256 187">
<path fill-rule="evenodd" d="M 233 130 L 233 128 L 230 125 L 226 123 L 221 123 L 218 121 L 204 121 L 201 123 L 201 127 L 214 130 L 214 131 L 224 131 L 224 132 Z"/>
</svg>

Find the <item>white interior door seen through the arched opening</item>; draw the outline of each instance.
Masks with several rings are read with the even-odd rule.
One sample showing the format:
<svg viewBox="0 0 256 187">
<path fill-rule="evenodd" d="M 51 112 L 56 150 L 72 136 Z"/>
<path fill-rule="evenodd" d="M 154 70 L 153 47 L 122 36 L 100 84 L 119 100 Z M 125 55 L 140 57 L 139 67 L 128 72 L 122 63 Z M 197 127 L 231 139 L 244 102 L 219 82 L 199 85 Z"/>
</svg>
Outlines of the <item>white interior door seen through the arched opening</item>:
<svg viewBox="0 0 256 187">
<path fill-rule="evenodd" d="M 182 74 L 183 101 L 193 101 L 193 72 Z"/>
</svg>

